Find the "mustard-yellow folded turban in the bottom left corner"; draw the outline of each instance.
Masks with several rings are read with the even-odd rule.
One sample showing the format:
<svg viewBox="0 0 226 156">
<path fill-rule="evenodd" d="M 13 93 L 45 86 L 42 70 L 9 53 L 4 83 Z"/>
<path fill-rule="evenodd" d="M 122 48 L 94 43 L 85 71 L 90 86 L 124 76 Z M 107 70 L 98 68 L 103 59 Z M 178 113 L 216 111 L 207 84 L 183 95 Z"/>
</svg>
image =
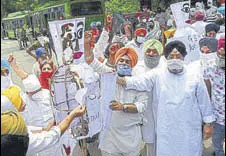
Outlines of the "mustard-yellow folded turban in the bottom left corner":
<svg viewBox="0 0 226 156">
<path fill-rule="evenodd" d="M 1 113 L 1 135 L 27 136 L 27 126 L 21 114 L 17 111 L 5 111 Z"/>
</svg>

